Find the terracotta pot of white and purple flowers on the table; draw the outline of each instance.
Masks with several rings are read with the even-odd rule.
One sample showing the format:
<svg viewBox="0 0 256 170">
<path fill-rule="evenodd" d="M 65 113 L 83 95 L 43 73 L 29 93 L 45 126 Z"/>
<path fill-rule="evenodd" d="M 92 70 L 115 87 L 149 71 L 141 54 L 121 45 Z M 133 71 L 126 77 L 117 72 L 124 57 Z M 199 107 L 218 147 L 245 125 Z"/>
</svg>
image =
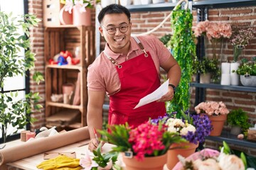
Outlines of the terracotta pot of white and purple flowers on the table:
<svg viewBox="0 0 256 170">
<path fill-rule="evenodd" d="M 169 132 L 178 133 L 186 142 L 171 145 L 167 155 L 167 167 L 173 169 L 178 162 L 178 154 L 188 157 L 193 154 L 199 142 L 204 142 L 210 135 L 211 125 L 207 115 L 194 114 L 188 111 L 182 113 L 182 118 L 176 118 L 176 113 L 166 114 L 158 119 L 151 120 L 154 123 L 164 122 Z"/>
</svg>

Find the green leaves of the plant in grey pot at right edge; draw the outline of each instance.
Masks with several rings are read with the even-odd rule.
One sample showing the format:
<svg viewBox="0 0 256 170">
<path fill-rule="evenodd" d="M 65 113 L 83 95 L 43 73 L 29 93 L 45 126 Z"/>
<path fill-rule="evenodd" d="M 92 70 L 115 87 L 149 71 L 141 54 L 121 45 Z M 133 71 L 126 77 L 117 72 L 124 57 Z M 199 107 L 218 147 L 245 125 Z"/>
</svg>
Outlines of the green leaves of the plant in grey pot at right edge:
<svg viewBox="0 0 256 170">
<path fill-rule="evenodd" d="M 249 61 L 247 58 L 243 58 L 242 64 L 238 67 L 236 73 L 239 75 L 250 74 L 251 76 L 256 76 L 256 57 L 252 57 Z"/>
</svg>

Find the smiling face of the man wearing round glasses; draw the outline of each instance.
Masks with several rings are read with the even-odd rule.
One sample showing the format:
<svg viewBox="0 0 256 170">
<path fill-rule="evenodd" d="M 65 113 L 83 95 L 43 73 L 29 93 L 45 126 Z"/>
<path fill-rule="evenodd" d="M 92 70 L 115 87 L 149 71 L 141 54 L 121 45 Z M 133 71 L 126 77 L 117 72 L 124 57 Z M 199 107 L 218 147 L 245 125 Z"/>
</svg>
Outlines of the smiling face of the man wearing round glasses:
<svg viewBox="0 0 256 170">
<path fill-rule="evenodd" d="M 107 14 L 100 25 L 100 33 L 104 36 L 113 52 L 128 52 L 131 23 L 124 13 Z"/>
</svg>

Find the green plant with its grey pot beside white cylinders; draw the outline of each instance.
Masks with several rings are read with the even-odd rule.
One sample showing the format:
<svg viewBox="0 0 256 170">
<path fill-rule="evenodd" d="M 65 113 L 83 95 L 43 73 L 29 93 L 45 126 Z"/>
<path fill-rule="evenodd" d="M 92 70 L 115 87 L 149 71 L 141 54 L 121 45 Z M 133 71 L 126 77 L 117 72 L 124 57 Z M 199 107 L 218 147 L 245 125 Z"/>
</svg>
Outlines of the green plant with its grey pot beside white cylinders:
<svg viewBox="0 0 256 170">
<path fill-rule="evenodd" d="M 240 75 L 243 86 L 256 86 L 256 57 L 252 57 L 251 61 L 243 58 L 241 62 L 242 64 L 240 64 L 238 70 L 233 70 L 233 72 Z"/>
</svg>

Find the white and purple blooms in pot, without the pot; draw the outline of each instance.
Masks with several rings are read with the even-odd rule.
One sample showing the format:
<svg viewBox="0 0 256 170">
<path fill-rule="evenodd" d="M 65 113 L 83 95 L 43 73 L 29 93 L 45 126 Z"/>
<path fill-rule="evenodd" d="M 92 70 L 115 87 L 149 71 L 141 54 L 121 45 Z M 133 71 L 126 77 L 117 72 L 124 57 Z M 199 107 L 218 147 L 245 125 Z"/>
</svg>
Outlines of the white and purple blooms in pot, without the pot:
<svg viewBox="0 0 256 170">
<path fill-rule="evenodd" d="M 186 111 L 182 113 L 182 117 L 176 118 L 176 112 L 174 112 L 151 121 L 153 123 L 164 121 L 164 124 L 168 126 L 169 132 L 177 132 L 190 143 L 197 145 L 198 142 L 204 142 L 212 130 L 208 116 L 205 114 L 190 114 Z"/>
</svg>

